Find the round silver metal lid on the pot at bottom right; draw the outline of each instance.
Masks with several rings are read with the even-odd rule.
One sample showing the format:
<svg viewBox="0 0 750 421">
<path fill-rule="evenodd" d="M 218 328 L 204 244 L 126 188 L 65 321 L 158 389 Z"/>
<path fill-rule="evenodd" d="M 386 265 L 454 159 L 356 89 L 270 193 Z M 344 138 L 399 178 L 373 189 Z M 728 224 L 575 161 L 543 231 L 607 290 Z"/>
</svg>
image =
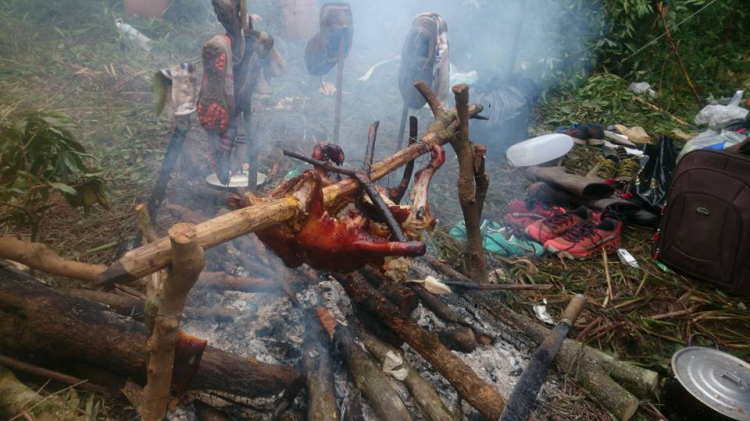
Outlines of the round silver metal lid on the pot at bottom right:
<svg viewBox="0 0 750 421">
<path fill-rule="evenodd" d="M 672 371 L 706 406 L 729 418 L 750 421 L 750 364 L 726 352 L 691 346 L 672 356 Z"/>
</svg>

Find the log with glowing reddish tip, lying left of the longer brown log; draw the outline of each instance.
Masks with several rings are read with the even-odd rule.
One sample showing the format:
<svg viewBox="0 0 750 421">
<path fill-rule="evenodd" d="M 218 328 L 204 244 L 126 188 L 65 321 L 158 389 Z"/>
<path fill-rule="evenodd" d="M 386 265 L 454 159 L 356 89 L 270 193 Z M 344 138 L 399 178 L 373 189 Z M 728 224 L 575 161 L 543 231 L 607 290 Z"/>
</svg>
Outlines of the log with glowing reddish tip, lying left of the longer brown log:
<svg viewBox="0 0 750 421">
<path fill-rule="evenodd" d="M 336 322 L 325 308 L 318 308 L 317 311 L 320 324 L 346 360 L 354 385 L 367 398 L 378 419 L 411 421 L 401 397 L 393 390 L 380 367 L 357 345 L 351 328 Z"/>
</svg>

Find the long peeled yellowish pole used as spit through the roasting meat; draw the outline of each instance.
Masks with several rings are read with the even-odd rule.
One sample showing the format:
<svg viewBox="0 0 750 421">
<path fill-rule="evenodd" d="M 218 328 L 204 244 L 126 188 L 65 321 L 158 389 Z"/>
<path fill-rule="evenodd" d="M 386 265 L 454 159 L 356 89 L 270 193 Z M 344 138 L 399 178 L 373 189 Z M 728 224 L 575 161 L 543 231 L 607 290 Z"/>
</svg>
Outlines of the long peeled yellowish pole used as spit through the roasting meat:
<svg viewBox="0 0 750 421">
<path fill-rule="evenodd" d="M 481 105 L 470 105 L 469 116 L 482 111 Z M 402 149 L 372 166 L 372 181 L 379 180 L 413 159 L 430 153 L 434 145 L 444 145 L 458 129 L 458 114 L 447 111 L 436 119 L 419 142 Z M 325 207 L 332 207 L 359 189 L 356 180 L 343 180 L 323 189 Z M 262 230 L 294 219 L 301 204 L 292 196 L 270 200 L 262 205 L 238 209 L 199 224 L 198 242 L 204 249 L 215 247 L 241 235 Z M 1 256 L 2 254 L 0 254 Z M 126 253 L 98 277 L 98 286 L 132 282 L 166 267 L 171 261 L 169 239 L 163 238 Z"/>
</svg>

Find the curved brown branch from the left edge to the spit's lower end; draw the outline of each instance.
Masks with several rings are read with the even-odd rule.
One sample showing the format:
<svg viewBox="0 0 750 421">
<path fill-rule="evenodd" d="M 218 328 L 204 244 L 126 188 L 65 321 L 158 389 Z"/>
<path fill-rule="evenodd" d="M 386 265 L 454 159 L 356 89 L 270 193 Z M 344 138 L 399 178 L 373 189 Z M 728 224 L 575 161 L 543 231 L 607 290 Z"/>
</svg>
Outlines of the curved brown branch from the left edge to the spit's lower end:
<svg viewBox="0 0 750 421">
<path fill-rule="evenodd" d="M 13 237 L 0 237 L 0 258 L 13 260 L 52 275 L 95 282 L 107 269 L 104 265 L 75 262 L 60 257 L 42 243 L 30 243 Z"/>
</svg>

